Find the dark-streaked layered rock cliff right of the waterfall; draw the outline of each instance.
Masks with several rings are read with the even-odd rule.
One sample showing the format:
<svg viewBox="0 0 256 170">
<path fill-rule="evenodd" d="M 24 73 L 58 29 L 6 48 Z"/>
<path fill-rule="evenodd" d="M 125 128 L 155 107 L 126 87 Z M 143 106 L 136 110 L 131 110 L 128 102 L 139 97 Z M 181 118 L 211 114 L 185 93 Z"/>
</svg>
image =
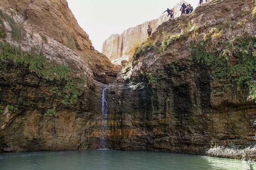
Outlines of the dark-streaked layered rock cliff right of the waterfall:
<svg viewBox="0 0 256 170">
<path fill-rule="evenodd" d="M 234 11 L 234 4 L 246 12 Z M 239 83 L 232 83 L 250 64 L 247 81 L 250 85 L 255 81 L 256 61 L 251 54 L 256 27 L 251 7 L 250 0 L 215 0 L 199 6 L 190 16 L 159 26 L 152 35 L 157 43 L 145 42 L 144 49 L 119 74 L 119 83 L 109 87 L 109 146 L 228 158 L 245 157 L 239 148 L 249 147 L 246 152 L 255 159 L 256 104 L 249 97 L 253 87 L 241 85 L 239 89 Z M 204 13 L 211 8 L 217 10 Z M 178 23 L 183 26 L 178 28 Z M 171 35 L 158 40 L 162 30 Z M 199 50 L 193 52 L 195 49 Z M 251 56 L 246 58 L 240 53 L 243 50 L 249 50 Z M 198 61 L 199 56 L 206 59 Z M 219 62 L 225 56 L 230 57 L 226 60 L 231 65 Z M 231 73 L 230 80 L 225 76 L 229 69 L 241 67 L 240 57 L 250 64 Z"/>
</svg>

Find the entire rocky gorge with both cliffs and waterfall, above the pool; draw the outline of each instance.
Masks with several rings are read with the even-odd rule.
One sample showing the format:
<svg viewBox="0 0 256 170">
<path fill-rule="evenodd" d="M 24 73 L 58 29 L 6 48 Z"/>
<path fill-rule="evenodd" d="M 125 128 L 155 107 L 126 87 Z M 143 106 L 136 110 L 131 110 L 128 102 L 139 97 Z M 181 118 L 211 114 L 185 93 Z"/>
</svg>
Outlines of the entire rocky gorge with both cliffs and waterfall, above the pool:
<svg viewBox="0 0 256 170">
<path fill-rule="evenodd" d="M 0 2 L 0 152 L 256 159 L 255 1 L 157 19 L 148 39 L 146 22 L 112 35 L 104 54 L 66 0 Z"/>
</svg>

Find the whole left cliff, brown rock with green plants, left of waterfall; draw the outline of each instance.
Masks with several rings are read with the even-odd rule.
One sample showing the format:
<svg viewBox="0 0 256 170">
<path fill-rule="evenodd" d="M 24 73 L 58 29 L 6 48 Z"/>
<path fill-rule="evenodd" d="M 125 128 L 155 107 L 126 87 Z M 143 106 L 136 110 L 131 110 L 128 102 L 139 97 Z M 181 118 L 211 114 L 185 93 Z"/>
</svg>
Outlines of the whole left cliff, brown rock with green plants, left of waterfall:
<svg viewBox="0 0 256 170">
<path fill-rule="evenodd" d="M 0 6 L 0 152 L 99 148 L 100 82 L 120 68 L 94 50 L 65 0 Z"/>
</svg>

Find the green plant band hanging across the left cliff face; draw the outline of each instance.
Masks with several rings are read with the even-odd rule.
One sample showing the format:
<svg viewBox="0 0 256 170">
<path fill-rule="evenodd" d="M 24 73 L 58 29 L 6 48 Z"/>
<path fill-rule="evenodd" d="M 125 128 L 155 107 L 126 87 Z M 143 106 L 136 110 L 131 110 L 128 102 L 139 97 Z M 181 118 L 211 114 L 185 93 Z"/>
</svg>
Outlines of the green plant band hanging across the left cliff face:
<svg viewBox="0 0 256 170">
<path fill-rule="evenodd" d="M 54 87 L 50 92 L 62 97 L 62 104 L 70 106 L 78 102 L 84 90 L 85 78 L 74 79 L 72 70 L 65 64 L 55 64 L 36 52 L 22 52 L 7 42 L 0 42 L 0 65 L 11 62 L 28 67 L 31 73 L 49 81 L 63 81 L 64 87 Z"/>
</svg>

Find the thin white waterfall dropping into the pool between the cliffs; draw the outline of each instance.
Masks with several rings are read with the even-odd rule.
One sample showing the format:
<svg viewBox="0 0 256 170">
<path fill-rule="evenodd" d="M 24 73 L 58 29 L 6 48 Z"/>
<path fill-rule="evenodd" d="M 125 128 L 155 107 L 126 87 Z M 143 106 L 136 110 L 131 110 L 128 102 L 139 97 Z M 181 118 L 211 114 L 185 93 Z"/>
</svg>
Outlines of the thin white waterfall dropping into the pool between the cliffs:
<svg viewBox="0 0 256 170">
<path fill-rule="evenodd" d="M 102 100 L 101 100 L 101 133 L 102 137 L 100 138 L 101 149 L 107 149 L 106 137 L 107 137 L 107 117 L 108 117 L 108 103 L 106 99 L 106 92 L 108 86 L 105 86 L 102 91 Z"/>
</svg>

